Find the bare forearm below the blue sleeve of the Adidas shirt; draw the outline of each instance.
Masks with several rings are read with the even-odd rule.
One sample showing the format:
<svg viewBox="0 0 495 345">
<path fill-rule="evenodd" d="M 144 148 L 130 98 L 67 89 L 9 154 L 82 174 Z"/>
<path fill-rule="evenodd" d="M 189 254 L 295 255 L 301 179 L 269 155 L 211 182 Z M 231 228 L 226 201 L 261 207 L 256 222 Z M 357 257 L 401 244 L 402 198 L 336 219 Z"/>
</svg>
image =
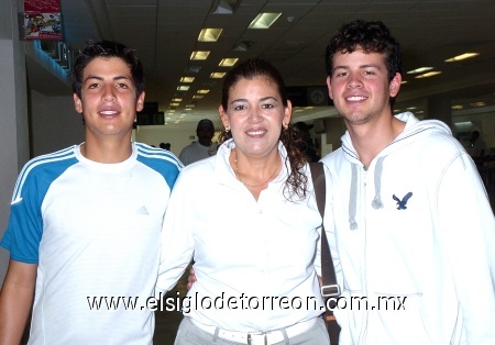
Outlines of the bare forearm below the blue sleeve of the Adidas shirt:
<svg viewBox="0 0 495 345">
<path fill-rule="evenodd" d="M 36 264 L 10 260 L 0 291 L 0 344 L 19 344 L 33 303 Z"/>
</svg>

